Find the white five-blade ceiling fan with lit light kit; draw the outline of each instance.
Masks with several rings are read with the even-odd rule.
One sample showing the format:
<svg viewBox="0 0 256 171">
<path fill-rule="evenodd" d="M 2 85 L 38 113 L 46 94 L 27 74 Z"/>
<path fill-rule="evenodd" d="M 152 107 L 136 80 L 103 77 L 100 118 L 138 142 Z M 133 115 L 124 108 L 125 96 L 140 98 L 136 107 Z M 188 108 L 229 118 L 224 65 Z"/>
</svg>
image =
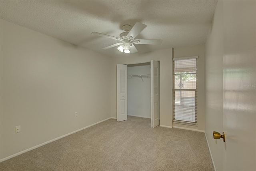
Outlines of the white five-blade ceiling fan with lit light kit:
<svg viewBox="0 0 256 171">
<path fill-rule="evenodd" d="M 122 28 L 125 32 L 120 34 L 120 38 L 114 37 L 114 36 L 109 36 L 109 35 L 98 33 L 98 32 L 92 32 L 92 34 L 121 41 L 120 43 L 116 43 L 116 44 L 107 46 L 107 47 L 102 48 L 102 49 L 109 49 L 109 48 L 119 46 L 117 49 L 120 52 L 123 52 L 123 53 L 126 53 L 126 54 L 130 53 L 130 52 L 131 53 L 138 52 L 138 50 L 136 49 L 134 44 L 154 44 L 154 45 L 157 45 L 157 44 L 162 43 L 162 40 L 156 40 L 156 39 L 135 39 L 136 36 L 138 36 L 138 34 L 140 34 L 140 32 L 142 32 L 142 30 L 144 30 L 144 28 L 146 28 L 145 24 L 136 22 L 136 24 L 133 27 L 131 27 L 130 25 L 124 25 Z"/>
</svg>

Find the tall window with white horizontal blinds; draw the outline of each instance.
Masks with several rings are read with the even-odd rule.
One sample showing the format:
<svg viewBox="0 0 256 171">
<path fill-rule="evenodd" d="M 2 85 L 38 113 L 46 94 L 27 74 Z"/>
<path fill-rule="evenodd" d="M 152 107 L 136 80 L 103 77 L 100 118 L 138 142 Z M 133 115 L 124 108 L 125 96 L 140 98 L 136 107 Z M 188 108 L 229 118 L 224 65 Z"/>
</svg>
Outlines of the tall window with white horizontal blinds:
<svg viewBox="0 0 256 171">
<path fill-rule="evenodd" d="M 197 58 L 173 59 L 173 122 L 197 125 Z"/>
</svg>

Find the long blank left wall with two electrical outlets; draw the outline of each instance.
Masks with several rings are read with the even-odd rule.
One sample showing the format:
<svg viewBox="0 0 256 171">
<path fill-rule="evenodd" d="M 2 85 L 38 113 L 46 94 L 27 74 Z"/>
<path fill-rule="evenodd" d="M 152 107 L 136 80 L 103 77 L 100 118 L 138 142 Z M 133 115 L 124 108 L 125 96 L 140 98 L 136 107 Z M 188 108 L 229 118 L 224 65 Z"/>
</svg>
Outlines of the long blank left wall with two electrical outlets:
<svg viewBox="0 0 256 171">
<path fill-rule="evenodd" d="M 110 62 L 1 20 L 1 159 L 109 118 Z"/>
</svg>

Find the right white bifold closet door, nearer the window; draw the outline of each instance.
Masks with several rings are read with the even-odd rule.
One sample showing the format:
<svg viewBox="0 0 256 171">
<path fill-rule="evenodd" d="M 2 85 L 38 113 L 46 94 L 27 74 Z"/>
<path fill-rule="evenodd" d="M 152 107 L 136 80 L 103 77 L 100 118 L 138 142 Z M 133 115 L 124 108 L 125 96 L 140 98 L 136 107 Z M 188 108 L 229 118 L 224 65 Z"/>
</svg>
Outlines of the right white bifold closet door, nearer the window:
<svg viewBox="0 0 256 171">
<path fill-rule="evenodd" d="M 159 61 L 151 61 L 151 127 L 159 125 Z"/>
</svg>

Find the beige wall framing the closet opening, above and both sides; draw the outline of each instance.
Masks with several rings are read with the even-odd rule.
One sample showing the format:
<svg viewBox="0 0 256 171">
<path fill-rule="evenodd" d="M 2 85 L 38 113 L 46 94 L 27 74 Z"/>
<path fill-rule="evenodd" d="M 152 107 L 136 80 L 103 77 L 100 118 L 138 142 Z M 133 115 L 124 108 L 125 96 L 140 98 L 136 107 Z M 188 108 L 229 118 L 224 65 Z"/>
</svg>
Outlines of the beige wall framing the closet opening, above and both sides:
<svg viewBox="0 0 256 171">
<path fill-rule="evenodd" d="M 116 64 L 136 64 L 160 61 L 160 125 L 172 126 L 172 49 L 144 54 L 127 54 L 112 58 L 111 64 L 111 115 L 116 117 Z"/>
</svg>

